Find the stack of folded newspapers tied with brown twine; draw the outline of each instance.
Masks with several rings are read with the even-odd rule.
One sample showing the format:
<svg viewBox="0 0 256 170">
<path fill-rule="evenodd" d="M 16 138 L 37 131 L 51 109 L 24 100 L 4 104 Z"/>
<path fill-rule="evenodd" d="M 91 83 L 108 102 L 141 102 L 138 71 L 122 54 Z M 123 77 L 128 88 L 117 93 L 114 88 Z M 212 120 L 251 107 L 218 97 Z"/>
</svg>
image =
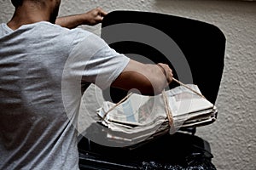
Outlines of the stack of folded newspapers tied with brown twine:
<svg viewBox="0 0 256 170">
<path fill-rule="evenodd" d="M 187 87 L 201 94 L 194 84 Z M 97 110 L 103 126 L 108 129 L 108 139 L 136 144 L 154 139 L 164 133 L 175 133 L 181 127 L 200 127 L 215 122 L 218 110 L 207 99 L 183 86 L 172 88 L 164 94 L 145 96 L 131 94 L 116 105 L 105 101 Z M 172 114 L 172 122 L 166 114 Z"/>
</svg>

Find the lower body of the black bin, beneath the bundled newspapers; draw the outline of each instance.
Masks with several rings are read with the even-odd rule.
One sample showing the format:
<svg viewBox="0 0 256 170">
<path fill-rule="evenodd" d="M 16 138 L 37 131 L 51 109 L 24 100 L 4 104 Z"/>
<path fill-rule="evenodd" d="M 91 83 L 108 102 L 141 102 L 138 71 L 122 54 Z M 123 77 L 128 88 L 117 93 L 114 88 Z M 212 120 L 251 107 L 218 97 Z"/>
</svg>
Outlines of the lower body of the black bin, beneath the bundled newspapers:
<svg viewBox="0 0 256 170">
<path fill-rule="evenodd" d="M 109 170 L 215 170 L 207 141 L 188 133 L 166 134 L 137 148 L 102 146 L 82 138 L 79 167 Z"/>
</svg>

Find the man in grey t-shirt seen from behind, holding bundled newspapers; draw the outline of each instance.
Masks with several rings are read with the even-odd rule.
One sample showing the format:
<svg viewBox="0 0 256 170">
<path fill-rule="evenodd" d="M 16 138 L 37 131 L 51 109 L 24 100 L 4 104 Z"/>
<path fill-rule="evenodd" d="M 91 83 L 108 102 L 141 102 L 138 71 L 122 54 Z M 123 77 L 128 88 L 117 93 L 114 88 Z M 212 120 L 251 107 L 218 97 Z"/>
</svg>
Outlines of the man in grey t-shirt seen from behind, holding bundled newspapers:
<svg viewBox="0 0 256 170">
<path fill-rule="evenodd" d="M 80 100 L 63 97 L 63 82 L 80 78 L 154 95 L 172 82 L 172 70 L 139 63 L 88 31 L 63 27 L 101 22 L 99 8 L 56 20 L 60 0 L 12 3 L 13 18 L 0 25 L 0 169 L 79 169 L 73 123 Z"/>
</svg>

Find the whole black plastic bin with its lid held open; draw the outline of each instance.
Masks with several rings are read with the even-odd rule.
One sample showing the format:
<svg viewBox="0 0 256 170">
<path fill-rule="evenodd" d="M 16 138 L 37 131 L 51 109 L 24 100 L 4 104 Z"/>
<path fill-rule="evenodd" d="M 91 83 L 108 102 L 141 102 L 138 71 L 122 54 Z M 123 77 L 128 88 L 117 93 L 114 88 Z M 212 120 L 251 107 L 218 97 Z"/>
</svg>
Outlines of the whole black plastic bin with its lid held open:
<svg viewBox="0 0 256 170">
<path fill-rule="evenodd" d="M 145 34 L 142 30 L 142 32 L 135 32 L 125 27 L 132 23 L 139 24 L 139 26 L 150 26 L 150 28 L 162 31 L 168 37 L 171 37 L 185 56 L 191 71 L 191 77 L 180 76 L 183 72 L 178 71 L 184 71 L 183 65 L 172 65 L 173 63 L 169 62 L 173 60 L 172 57 L 178 57 L 178 55 L 166 56 L 157 48 L 150 47 L 150 44 L 143 43 L 143 40 L 137 41 L 136 36 L 133 36 L 135 39 L 129 39 L 133 33 L 137 33 L 138 37 Z M 113 30 L 109 30 L 112 28 Z M 126 37 L 123 37 L 123 35 L 126 35 Z M 113 11 L 105 16 L 102 21 L 101 37 L 119 53 L 143 55 L 154 63 L 163 62 L 170 65 L 174 77 L 183 83 L 198 85 L 201 93 L 212 104 L 215 103 L 224 69 L 225 50 L 225 37 L 218 27 L 198 20 L 168 14 Z M 143 38 L 147 37 L 154 37 L 154 35 L 146 35 Z M 159 44 L 155 46 L 157 45 Z M 160 42 L 160 45 L 166 46 L 165 42 Z M 166 47 L 168 47 L 168 44 Z M 171 53 L 172 49 L 170 48 Z M 177 84 L 171 83 L 170 88 L 175 86 Z M 115 88 L 103 91 L 105 99 L 112 99 L 113 102 L 123 99 L 126 94 L 127 92 Z M 183 131 L 178 131 L 172 135 L 165 134 L 136 147 L 109 147 L 91 142 L 90 139 L 83 136 L 80 136 L 80 139 L 79 167 L 81 170 L 216 169 L 212 164 L 213 156 L 210 145 L 206 140 L 195 135 L 195 128 L 183 129 Z"/>
</svg>

